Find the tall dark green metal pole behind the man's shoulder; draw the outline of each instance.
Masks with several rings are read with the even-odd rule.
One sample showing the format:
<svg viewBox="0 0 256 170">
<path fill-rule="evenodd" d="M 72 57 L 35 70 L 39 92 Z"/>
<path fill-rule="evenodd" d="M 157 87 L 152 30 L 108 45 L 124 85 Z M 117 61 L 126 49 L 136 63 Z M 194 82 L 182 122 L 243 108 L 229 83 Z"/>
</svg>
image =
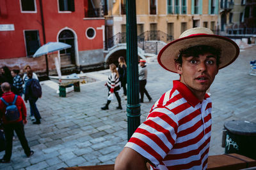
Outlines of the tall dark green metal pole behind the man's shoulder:
<svg viewBox="0 0 256 170">
<path fill-rule="evenodd" d="M 126 1 L 128 140 L 140 125 L 136 0 Z"/>
</svg>

